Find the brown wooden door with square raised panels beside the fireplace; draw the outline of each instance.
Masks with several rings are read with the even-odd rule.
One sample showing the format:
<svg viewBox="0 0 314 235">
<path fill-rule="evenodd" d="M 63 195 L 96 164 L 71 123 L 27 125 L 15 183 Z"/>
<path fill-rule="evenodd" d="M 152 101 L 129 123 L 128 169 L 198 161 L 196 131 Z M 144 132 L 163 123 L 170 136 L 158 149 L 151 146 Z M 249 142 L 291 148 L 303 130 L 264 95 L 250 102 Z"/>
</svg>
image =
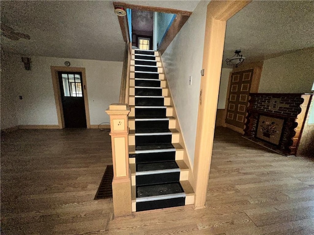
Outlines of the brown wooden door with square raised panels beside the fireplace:
<svg viewBox="0 0 314 235">
<path fill-rule="evenodd" d="M 253 70 L 231 74 L 226 123 L 243 129 Z"/>
</svg>

